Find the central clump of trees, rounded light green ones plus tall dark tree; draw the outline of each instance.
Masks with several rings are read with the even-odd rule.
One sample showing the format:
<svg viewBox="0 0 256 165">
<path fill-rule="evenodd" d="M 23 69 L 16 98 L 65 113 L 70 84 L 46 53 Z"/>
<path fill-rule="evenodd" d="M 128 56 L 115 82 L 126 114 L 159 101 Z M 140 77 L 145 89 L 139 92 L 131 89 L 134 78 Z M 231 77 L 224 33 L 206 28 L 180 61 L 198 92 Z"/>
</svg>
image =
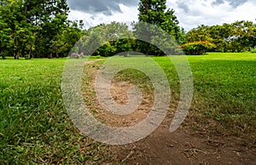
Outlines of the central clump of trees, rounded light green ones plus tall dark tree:
<svg viewBox="0 0 256 165">
<path fill-rule="evenodd" d="M 71 56 L 84 54 L 112 56 L 136 51 L 146 55 L 177 54 L 177 43 L 185 42 L 185 31 L 173 9 L 166 8 L 166 0 L 141 0 L 139 22 L 127 25 L 112 22 L 101 24 L 84 32 L 84 37 L 73 48 Z"/>
</svg>

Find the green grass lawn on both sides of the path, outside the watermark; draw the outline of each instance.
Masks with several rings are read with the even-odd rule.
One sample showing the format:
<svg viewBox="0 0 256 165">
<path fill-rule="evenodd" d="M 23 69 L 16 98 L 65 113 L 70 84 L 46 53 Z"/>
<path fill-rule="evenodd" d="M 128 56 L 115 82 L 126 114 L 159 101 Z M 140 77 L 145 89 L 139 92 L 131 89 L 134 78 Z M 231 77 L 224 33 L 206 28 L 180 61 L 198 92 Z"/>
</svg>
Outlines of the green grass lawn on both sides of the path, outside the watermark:
<svg viewBox="0 0 256 165">
<path fill-rule="evenodd" d="M 188 59 L 195 84 L 190 118 L 198 125 L 212 119 L 230 134 L 255 139 L 256 54 L 211 53 Z M 154 60 L 166 71 L 173 100 L 178 100 L 174 66 L 167 57 Z M 67 116 L 61 100 L 64 64 L 64 59 L 0 60 L 0 164 L 111 159 L 108 146 L 79 134 Z M 136 74 L 123 77 L 136 82 Z"/>
</svg>

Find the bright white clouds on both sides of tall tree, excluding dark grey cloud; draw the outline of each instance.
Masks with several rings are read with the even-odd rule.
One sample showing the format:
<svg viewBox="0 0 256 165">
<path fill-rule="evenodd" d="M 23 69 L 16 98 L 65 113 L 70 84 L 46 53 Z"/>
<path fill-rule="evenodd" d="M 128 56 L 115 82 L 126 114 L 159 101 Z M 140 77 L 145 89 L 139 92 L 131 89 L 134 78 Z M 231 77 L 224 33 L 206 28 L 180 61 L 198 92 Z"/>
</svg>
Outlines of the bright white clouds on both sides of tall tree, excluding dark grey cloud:
<svg viewBox="0 0 256 165">
<path fill-rule="evenodd" d="M 256 3 L 254 0 L 247 0 L 246 3 L 236 8 L 229 1 L 221 1 L 218 5 L 212 3 L 216 0 L 167 0 L 167 8 L 174 9 L 180 26 L 186 31 L 200 25 L 213 26 L 224 23 L 232 23 L 236 20 L 250 20 L 255 22 Z M 86 28 L 96 26 L 100 23 L 110 23 L 112 21 L 131 22 L 137 21 L 137 6 L 126 6 L 119 4 L 122 13 L 114 12 L 112 15 L 106 14 L 85 14 L 78 10 L 71 10 L 70 20 L 84 20 Z"/>
</svg>

